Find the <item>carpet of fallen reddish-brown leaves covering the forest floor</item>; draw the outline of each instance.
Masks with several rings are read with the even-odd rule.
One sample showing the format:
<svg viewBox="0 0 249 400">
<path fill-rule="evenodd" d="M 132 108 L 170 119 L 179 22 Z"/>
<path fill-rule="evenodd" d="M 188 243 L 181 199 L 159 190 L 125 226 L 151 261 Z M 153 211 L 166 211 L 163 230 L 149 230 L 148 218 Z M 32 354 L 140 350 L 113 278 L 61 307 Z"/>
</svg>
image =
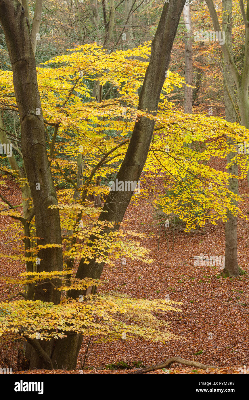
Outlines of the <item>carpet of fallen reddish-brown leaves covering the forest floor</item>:
<svg viewBox="0 0 249 400">
<path fill-rule="evenodd" d="M 224 170 L 224 163 L 213 160 L 215 168 Z M 19 189 L 12 181 L 6 181 L 4 188 L 6 196 L 13 204 L 20 204 Z M 161 182 L 155 181 L 160 185 Z M 248 194 L 247 182 L 239 182 L 239 193 Z M 240 204 L 245 214 L 249 211 L 249 198 Z M 168 312 L 170 331 L 184 339 L 160 342 L 149 342 L 143 339 L 117 340 L 116 342 L 90 343 L 84 373 L 123 374 L 134 371 L 134 364 L 149 366 L 163 363 L 167 358 L 180 356 L 187 360 L 215 365 L 217 370 L 197 370 L 173 364 L 170 373 L 239 373 L 240 367 L 249 366 L 249 275 L 238 278 L 223 278 L 218 266 L 194 266 L 193 257 L 201 253 L 207 255 L 225 255 L 225 224 L 208 224 L 196 232 L 176 232 L 175 246 L 172 250 L 172 232 L 169 237 L 169 252 L 165 236 L 161 234 L 158 245 L 159 227 L 153 218 L 153 210 L 148 199 L 139 200 L 137 206 L 131 202 L 125 214 L 127 228 L 132 228 L 147 238 L 140 240 L 141 245 L 151 250 L 149 257 L 153 264 L 126 259 L 126 265 L 121 270 L 120 261 L 113 267 L 106 266 L 102 274 L 101 291 L 116 290 L 134 298 L 157 299 L 169 296 L 170 300 L 182 302 L 182 312 Z M 3 230 L 0 237 L 1 252 L 14 254 L 14 244 L 11 242 L 10 218 L 1 218 Z M 239 266 L 249 272 L 249 257 L 247 240 L 249 226 L 245 220 L 238 219 L 238 260 Z M 248 242 L 249 243 L 249 242 Z M 25 270 L 18 261 L 1 259 L 1 273 L 17 276 Z M 8 287 L 0 281 L 0 299 L 10 296 Z M 16 371 L 15 373 L 82 373 L 83 360 L 89 338 L 82 344 L 75 371 Z M 118 363 L 124 363 L 130 370 L 120 370 Z M 156 374 L 169 373 L 167 370 L 157 370 Z M 249 368 L 248 368 L 249 373 Z"/>
</svg>

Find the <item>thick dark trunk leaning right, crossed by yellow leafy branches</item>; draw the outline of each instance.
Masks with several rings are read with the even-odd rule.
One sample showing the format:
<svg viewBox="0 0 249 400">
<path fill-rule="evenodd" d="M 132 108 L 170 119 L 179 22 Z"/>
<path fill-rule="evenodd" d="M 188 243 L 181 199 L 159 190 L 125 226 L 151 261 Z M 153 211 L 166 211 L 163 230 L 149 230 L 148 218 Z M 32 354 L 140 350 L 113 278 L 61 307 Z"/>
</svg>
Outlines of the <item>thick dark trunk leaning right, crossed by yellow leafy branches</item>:
<svg viewBox="0 0 249 400">
<path fill-rule="evenodd" d="M 139 109 L 148 109 L 154 114 L 157 112 L 165 71 L 169 66 L 171 48 L 184 4 L 185 0 L 171 0 L 163 6 L 157 31 L 151 43 L 151 57 L 139 95 L 138 114 Z M 135 122 L 124 161 L 116 177 L 118 181 L 137 182 L 139 180 L 149 151 L 154 126 L 155 122 L 146 117 L 141 117 L 138 122 Z M 132 194 L 133 191 L 110 192 L 103 208 L 103 211 L 108 212 L 102 212 L 99 220 L 116 221 L 118 228 L 118 222 L 122 221 Z M 86 264 L 83 259 L 80 261 L 76 278 L 100 278 L 104 264 L 97 264 L 95 260 L 89 261 L 89 264 Z M 77 298 L 81 293 L 81 291 L 72 290 L 70 296 Z M 58 368 L 76 368 L 78 355 L 76 349 L 80 348 L 81 342 L 81 335 L 56 340 L 52 354 L 53 364 Z"/>
</svg>

